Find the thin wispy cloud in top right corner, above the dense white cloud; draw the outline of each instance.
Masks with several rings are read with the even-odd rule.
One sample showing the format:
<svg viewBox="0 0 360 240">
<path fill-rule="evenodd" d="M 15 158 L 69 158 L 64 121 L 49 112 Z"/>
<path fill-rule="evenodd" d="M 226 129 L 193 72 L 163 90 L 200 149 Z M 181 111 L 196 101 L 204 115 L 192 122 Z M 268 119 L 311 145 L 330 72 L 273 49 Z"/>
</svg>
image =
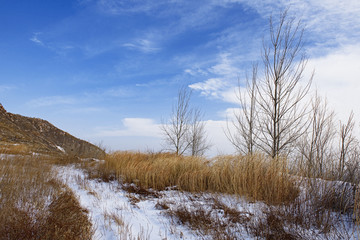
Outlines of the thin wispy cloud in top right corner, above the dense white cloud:
<svg viewBox="0 0 360 240">
<path fill-rule="evenodd" d="M 360 1 L 337 0 L 226 0 L 245 4 L 268 18 L 289 8 L 289 13 L 304 23 L 314 54 L 326 54 L 339 45 L 356 43 L 360 37 Z M 325 51 L 324 51 L 325 48 Z M 321 51 L 317 51 L 321 49 Z"/>
</svg>

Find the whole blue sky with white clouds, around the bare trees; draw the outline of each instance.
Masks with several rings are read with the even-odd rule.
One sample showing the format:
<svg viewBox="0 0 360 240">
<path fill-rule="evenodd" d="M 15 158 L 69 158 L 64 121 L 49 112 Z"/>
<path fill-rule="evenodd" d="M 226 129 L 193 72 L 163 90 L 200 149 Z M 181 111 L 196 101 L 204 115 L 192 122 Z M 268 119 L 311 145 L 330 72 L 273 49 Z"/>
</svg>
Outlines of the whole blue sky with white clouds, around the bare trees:
<svg viewBox="0 0 360 240">
<path fill-rule="evenodd" d="M 290 7 L 307 29 L 314 89 L 360 119 L 360 2 L 19 0 L 0 8 L 0 102 L 110 149 L 162 148 L 159 124 L 182 85 L 205 112 L 212 154 L 234 86 L 261 60 L 268 18 Z"/>
</svg>

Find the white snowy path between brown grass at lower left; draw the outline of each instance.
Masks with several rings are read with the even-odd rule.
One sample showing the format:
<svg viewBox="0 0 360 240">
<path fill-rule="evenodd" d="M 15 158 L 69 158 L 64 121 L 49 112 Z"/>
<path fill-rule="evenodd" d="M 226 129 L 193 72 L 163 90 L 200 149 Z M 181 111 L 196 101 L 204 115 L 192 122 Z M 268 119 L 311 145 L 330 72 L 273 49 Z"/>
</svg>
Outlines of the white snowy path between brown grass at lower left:
<svg viewBox="0 0 360 240">
<path fill-rule="evenodd" d="M 75 167 L 57 167 L 60 179 L 88 209 L 95 240 L 102 239 L 197 239 L 185 227 L 171 223 L 156 209 L 156 199 L 132 204 L 117 182 L 105 183 L 86 178 Z"/>
</svg>

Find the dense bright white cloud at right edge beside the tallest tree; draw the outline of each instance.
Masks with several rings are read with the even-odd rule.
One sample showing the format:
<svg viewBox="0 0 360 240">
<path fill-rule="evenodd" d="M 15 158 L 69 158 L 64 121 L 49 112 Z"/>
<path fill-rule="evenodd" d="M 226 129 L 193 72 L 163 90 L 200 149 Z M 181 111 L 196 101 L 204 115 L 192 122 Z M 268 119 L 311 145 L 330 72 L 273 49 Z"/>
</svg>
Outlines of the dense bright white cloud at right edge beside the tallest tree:
<svg viewBox="0 0 360 240">
<path fill-rule="evenodd" d="M 315 69 L 313 87 L 327 97 L 338 117 L 345 120 L 353 110 L 359 122 L 360 44 L 343 46 L 324 57 L 310 59 L 308 67 Z"/>
</svg>

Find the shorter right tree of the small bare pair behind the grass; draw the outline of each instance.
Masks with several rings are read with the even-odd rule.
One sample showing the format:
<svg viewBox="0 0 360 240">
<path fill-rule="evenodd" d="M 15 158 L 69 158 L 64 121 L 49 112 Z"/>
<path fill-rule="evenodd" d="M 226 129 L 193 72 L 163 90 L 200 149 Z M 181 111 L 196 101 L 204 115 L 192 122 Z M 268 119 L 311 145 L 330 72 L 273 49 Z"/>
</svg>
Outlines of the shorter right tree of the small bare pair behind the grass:
<svg viewBox="0 0 360 240">
<path fill-rule="evenodd" d="M 188 134 L 191 156 L 202 156 L 211 146 L 206 138 L 205 122 L 202 121 L 202 118 L 203 113 L 200 109 L 192 110 Z"/>
</svg>

